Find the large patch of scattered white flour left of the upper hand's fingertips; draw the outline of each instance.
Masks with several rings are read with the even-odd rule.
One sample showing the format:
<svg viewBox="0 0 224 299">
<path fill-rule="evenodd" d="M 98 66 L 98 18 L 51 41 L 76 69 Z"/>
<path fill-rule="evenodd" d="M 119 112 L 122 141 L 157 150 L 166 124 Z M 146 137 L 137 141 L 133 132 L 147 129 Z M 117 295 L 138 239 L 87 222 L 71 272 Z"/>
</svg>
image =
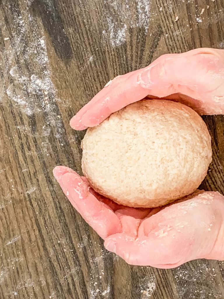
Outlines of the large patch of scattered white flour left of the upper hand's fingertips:
<svg viewBox="0 0 224 299">
<path fill-rule="evenodd" d="M 31 2 L 28 1 L 27 4 Z M 14 17 L 13 25 L 17 31 L 12 32 L 11 43 L 3 54 L 6 72 L 4 77 L 13 77 L 13 84 L 10 80 L 4 82 L 5 94 L 27 116 L 42 114 L 48 129 L 56 138 L 60 138 L 64 134 L 56 105 L 60 99 L 51 81 L 44 30 L 39 26 L 38 18 L 31 16 L 28 9 L 29 6 Z M 29 28 L 33 29 L 32 33 Z"/>
</svg>

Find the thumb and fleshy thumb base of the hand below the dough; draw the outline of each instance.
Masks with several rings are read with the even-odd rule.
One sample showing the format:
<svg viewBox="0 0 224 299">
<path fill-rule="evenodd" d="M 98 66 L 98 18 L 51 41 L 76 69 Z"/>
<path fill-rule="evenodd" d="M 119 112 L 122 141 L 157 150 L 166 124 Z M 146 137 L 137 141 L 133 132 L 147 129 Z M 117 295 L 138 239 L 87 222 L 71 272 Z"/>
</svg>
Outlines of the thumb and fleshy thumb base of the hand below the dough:
<svg viewBox="0 0 224 299">
<path fill-rule="evenodd" d="M 138 237 L 114 234 L 105 248 L 127 263 L 168 269 L 198 258 L 224 259 L 224 196 L 203 192 L 142 221 Z"/>
</svg>

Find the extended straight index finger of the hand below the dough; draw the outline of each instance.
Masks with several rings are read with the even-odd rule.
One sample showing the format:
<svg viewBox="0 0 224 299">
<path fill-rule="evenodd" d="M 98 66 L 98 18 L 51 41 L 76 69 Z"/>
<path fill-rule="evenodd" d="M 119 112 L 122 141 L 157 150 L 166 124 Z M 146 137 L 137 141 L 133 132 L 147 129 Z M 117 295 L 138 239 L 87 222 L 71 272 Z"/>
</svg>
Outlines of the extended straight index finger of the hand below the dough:
<svg viewBox="0 0 224 299">
<path fill-rule="evenodd" d="M 62 176 L 58 176 L 61 169 L 54 170 L 63 192 L 81 214 L 83 219 L 99 234 L 103 239 L 110 234 L 121 231 L 119 218 L 107 205 L 99 202 L 88 190 L 88 184 L 75 172 L 61 170 Z"/>
</svg>

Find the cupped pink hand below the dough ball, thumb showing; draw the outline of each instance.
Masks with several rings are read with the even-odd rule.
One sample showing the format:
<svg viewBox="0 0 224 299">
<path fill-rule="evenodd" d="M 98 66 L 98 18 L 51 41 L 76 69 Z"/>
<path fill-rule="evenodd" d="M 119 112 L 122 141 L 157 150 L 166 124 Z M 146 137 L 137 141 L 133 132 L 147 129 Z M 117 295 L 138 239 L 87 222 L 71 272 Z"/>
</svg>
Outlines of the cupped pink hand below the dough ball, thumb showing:
<svg viewBox="0 0 224 299">
<path fill-rule="evenodd" d="M 197 191 L 185 201 L 154 209 L 117 205 L 70 168 L 54 176 L 73 207 L 127 263 L 174 268 L 199 258 L 224 260 L 224 196 Z"/>
</svg>

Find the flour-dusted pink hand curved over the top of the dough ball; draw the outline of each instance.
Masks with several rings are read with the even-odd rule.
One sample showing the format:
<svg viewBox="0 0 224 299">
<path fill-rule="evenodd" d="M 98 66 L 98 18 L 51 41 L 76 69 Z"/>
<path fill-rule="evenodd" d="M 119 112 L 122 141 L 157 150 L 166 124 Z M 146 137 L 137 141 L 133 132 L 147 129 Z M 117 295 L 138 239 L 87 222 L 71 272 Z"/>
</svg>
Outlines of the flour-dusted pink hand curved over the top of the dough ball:
<svg viewBox="0 0 224 299">
<path fill-rule="evenodd" d="M 199 114 L 224 114 L 224 50 L 166 54 L 149 66 L 108 82 L 70 121 L 83 130 L 150 95 L 177 100 Z"/>
</svg>

